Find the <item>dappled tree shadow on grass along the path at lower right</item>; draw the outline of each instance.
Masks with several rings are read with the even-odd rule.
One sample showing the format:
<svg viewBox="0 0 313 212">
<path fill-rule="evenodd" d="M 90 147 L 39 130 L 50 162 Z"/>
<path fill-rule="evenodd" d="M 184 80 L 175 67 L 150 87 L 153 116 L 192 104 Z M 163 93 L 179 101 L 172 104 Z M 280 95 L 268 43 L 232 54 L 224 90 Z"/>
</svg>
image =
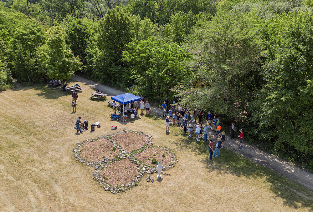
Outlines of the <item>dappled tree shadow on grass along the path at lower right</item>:
<svg viewBox="0 0 313 212">
<path fill-rule="evenodd" d="M 204 158 L 200 162 L 205 164 L 208 172 L 215 170 L 218 174 L 232 174 L 247 179 L 265 178 L 266 183 L 270 185 L 270 190 L 277 198 L 283 199 L 285 205 L 293 209 L 305 208 L 313 211 L 312 190 L 263 165 L 256 164 L 252 160 L 225 148 L 221 149 L 220 157 L 210 160 L 208 142 L 204 142 L 203 139 L 196 142 L 194 136 L 193 139 L 181 138 L 174 143 L 180 149 L 192 149 L 195 154 L 203 155 Z"/>
</svg>

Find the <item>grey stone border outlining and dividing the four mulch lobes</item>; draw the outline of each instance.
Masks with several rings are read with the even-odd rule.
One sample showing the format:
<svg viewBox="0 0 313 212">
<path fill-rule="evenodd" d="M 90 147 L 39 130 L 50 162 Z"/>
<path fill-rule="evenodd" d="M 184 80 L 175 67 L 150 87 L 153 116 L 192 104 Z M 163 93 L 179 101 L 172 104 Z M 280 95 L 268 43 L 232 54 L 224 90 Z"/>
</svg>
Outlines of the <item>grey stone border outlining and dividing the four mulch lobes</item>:
<svg viewBox="0 0 313 212">
<path fill-rule="evenodd" d="M 145 144 L 144 146 L 141 146 L 141 148 L 136 149 L 136 150 L 132 150 L 131 153 L 126 152 L 122 146 L 120 146 L 118 143 L 116 143 L 114 141 L 114 137 L 116 137 L 117 134 L 120 133 L 126 133 L 126 132 L 131 132 L 131 133 L 136 133 L 136 134 L 141 134 L 141 135 L 145 135 L 146 136 L 146 141 L 148 142 L 147 144 Z M 118 149 L 120 150 L 120 153 L 118 155 L 116 155 L 113 159 L 110 158 L 104 158 L 101 161 L 87 161 L 85 159 L 83 159 L 80 156 L 80 148 L 83 147 L 84 144 L 88 144 L 89 142 L 94 142 L 96 140 L 99 139 L 107 139 L 110 140 L 110 142 L 112 142 L 112 144 Z M 73 148 L 73 153 L 74 153 L 74 157 L 76 161 L 79 161 L 80 163 L 84 164 L 84 165 L 89 165 L 89 166 L 94 166 L 95 167 L 95 172 L 93 173 L 93 179 L 94 181 L 96 181 L 98 184 L 100 184 L 105 191 L 109 191 L 113 194 L 117 194 L 119 192 L 126 192 L 126 190 L 131 189 L 134 186 L 137 186 L 138 183 L 140 182 L 140 178 L 144 176 L 144 174 L 148 174 L 148 177 L 146 179 L 147 182 L 150 182 L 151 177 L 149 176 L 149 174 L 157 174 L 157 170 L 156 170 L 156 166 L 152 165 L 152 164 L 144 164 L 144 163 L 140 163 L 138 160 L 135 160 L 135 157 L 137 154 L 140 154 L 141 152 L 144 152 L 147 148 L 162 148 L 162 150 L 168 151 L 169 154 L 172 155 L 172 161 L 171 163 L 166 166 L 166 167 L 162 167 L 162 171 L 165 172 L 167 169 L 172 168 L 177 162 L 177 158 L 176 158 L 176 153 L 167 148 L 167 146 L 152 146 L 153 142 L 152 142 L 152 136 L 150 134 L 146 134 L 143 131 L 135 131 L 135 130 L 123 130 L 121 132 L 117 132 L 117 133 L 113 133 L 113 134 L 107 134 L 105 136 L 102 137 L 96 137 L 95 139 L 87 139 L 86 141 L 83 142 L 77 142 L 76 147 Z M 129 159 L 132 163 L 137 165 L 137 170 L 138 170 L 138 175 L 136 175 L 136 178 L 132 179 L 132 182 L 128 183 L 125 186 L 115 186 L 113 187 L 113 185 L 105 182 L 105 179 L 103 178 L 103 176 L 101 175 L 101 172 L 103 170 L 104 167 L 107 167 L 107 164 L 113 164 L 116 161 L 119 161 L 121 159 Z M 162 174 L 162 173 L 161 173 Z M 170 175 L 165 173 L 165 175 Z M 154 180 L 151 179 L 151 182 L 153 183 Z"/>
</svg>

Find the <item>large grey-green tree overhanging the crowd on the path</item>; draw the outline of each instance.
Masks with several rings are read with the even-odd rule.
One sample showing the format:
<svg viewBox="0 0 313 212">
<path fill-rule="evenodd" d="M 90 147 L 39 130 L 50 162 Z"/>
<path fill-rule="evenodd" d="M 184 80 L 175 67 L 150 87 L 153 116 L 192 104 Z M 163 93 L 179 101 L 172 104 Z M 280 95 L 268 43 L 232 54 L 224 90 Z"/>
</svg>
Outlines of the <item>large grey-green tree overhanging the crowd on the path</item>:
<svg viewBox="0 0 313 212">
<path fill-rule="evenodd" d="M 246 106 L 262 85 L 260 19 L 253 15 L 216 16 L 188 38 L 190 76 L 177 87 L 183 103 L 228 119 L 249 116 Z"/>
</svg>

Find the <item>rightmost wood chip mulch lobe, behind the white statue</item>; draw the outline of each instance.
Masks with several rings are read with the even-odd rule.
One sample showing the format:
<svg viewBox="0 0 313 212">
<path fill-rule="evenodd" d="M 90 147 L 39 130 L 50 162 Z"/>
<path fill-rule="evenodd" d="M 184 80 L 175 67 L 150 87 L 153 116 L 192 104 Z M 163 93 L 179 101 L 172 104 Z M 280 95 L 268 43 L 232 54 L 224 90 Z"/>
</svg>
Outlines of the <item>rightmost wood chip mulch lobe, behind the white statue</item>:
<svg viewBox="0 0 313 212">
<path fill-rule="evenodd" d="M 156 156 L 154 156 L 154 154 Z M 162 157 L 162 154 L 165 155 L 165 157 Z M 170 154 L 165 149 L 161 148 L 147 148 L 145 151 L 137 154 L 134 158 L 137 160 L 141 160 L 143 164 L 150 164 L 153 166 L 157 166 L 157 164 L 152 164 L 152 159 L 156 159 L 157 162 L 162 162 L 163 166 L 168 166 L 171 161 L 173 160 L 172 154 Z"/>
</svg>

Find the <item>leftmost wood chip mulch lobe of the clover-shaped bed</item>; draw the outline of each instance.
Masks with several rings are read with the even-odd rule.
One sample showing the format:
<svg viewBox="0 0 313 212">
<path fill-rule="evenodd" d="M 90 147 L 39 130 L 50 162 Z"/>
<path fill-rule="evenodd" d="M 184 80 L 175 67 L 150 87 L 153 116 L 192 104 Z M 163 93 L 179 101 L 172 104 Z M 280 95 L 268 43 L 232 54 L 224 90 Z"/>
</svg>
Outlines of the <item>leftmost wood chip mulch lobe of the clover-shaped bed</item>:
<svg viewBox="0 0 313 212">
<path fill-rule="evenodd" d="M 99 161 L 105 158 L 113 158 L 118 155 L 120 151 L 115 148 L 113 151 L 113 144 L 107 139 L 99 139 L 93 142 L 84 144 L 81 148 L 80 156 L 87 161 Z"/>
</svg>

